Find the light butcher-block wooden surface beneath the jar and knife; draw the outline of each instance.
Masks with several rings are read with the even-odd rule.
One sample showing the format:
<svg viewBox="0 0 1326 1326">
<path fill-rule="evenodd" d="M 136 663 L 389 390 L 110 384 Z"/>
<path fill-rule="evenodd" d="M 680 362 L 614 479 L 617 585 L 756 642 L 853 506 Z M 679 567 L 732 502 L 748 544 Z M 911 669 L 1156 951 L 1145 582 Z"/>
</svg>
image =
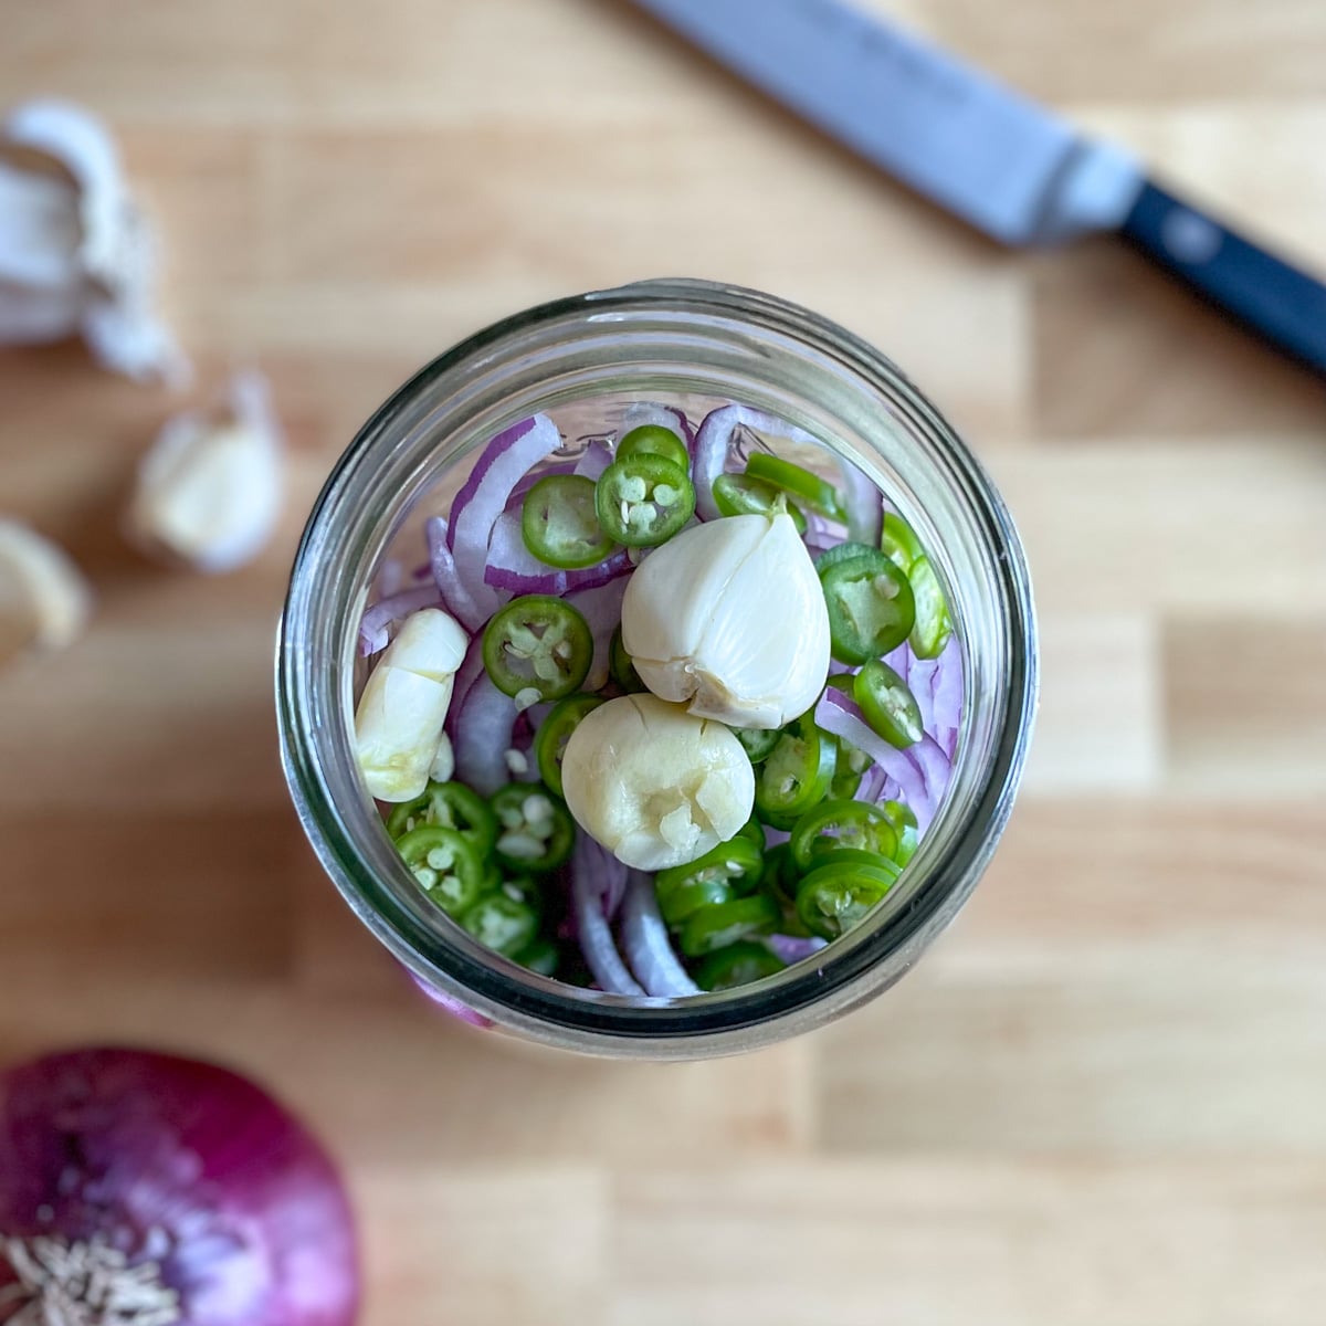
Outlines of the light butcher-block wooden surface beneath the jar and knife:
<svg viewBox="0 0 1326 1326">
<path fill-rule="evenodd" d="M 1326 271 L 1317 0 L 870 0 Z M 1326 1297 L 1326 391 L 1107 241 L 997 249 L 623 0 L 46 0 L 7 98 L 115 126 L 203 386 L 273 378 L 278 538 L 126 549 L 179 402 L 0 353 L 0 507 L 88 569 L 0 678 L 0 1055 L 138 1041 L 343 1158 L 369 1326 L 1310 1326 Z M 967 914 L 829 1032 L 720 1063 L 505 1053 L 423 1005 L 286 806 L 269 655 L 332 461 L 541 298 L 693 273 L 876 341 L 1024 529 L 1045 697 Z"/>
</svg>

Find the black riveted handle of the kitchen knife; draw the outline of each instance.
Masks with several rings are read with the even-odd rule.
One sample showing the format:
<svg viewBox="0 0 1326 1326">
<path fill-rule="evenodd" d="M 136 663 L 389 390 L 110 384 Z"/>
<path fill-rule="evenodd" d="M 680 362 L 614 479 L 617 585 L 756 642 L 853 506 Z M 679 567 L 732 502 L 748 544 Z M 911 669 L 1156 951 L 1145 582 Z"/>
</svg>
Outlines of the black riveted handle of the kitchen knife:
<svg viewBox="0 0 1326 1326">
<path fill-rule="evenodd" d="M 1147 183 L 1123 236 L 1258 335 L 1326 374 L 1326 285 Z"/>
</svg>

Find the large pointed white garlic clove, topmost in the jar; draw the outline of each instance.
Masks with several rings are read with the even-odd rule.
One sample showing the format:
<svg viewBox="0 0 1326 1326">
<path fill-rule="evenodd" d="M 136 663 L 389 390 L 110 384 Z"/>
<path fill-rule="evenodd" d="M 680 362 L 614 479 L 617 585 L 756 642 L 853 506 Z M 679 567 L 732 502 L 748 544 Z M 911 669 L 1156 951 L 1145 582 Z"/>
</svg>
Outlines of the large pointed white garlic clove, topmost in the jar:
<svg viewBox="0 0 1326 1326">
<path fill-rule="evenodd" d="M 691 713 L 781 728 L 829 675 L 829 610 L 792 517 L 727 516 L 655 549 L 626 586 L 622 644 Z"/>
</svg>

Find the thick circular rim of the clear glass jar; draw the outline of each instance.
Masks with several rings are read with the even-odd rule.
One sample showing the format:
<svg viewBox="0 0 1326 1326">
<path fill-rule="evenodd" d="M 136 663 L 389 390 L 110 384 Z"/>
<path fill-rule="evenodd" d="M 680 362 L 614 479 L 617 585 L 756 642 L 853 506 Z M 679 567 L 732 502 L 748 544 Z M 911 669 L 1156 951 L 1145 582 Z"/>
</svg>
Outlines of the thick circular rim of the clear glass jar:
<svg viewBox="0 0 1326 1326">
<path fill-rule="evenodd" d="M 476 378 L 493 379 L 492 399 L 471 391 L 471 399 L 456 408 L 475 412 L 480 398 L 495 403 L 504 369 L 545 343 L 550 333 L 565 334 L 572 342 L 590 328 L 601 333 L 606 326 L 609 334 L 617 328 L 626 334 L 633 320 L 662 320 L 658 334 L 693 339 L 696 354 L 705 337 L 712 341 L 739 328 L 757 341 L 766 338 L 770 354 L 777 342 L 777 353 L 786 354 L 792 346 L 821 355 L 861 391 L 887 400 L 906 416 L 907 427 L 944 457 L 947 481 L 961 489 L 969 513 L 980 522 L 992 574 L 998 578 L 1005 627 L 1005 712 L 998 739 L 989 752 L 981 794 L 963 808 L 963 823 L 930 861 L 926 887 L 878 928 L 837 941 L 825 951 L 822 963 L 790 968 L 745 992 L 684 1001 L 561 993 L 565 987 L 556 981 L 528 973 L 516 977 L 503 964 L 484 960 L 464 940 L 440 944 L 396 906 L 390 890 L 365 866 L 361 843 L 347 829 L 322 768 L 328 735 L 310 723 L 310 715 L 317 713 L 316 688 L 333 684 L 332 660 L 313 638 L 320 590 L 328 569 L 354 541 L 346 512 L 349 503 L 362 503 L 357 484 L 362 484 L 365 467 L 371 467 L 378 448 L 394 444 L 418 424 L 422 402 L 455 402 Z M 362 538 L 362 528 L 358 533 Z M 590 1053 L 640 1057 L 695 1057 L 781 1040 L 827 1021 L 896 980 L 960 908 L 994 849 L 1021 777 L 1037 684 L 1034 610 L 1021 542 L 983 467 L 935 407 L 879 351 L 818 314 L 761 292 L 682 280 L 594 292 L 518 313 L 459 343 L 396 391 L 342 455 L 313 508 L 296 554 L 277 648 L 281 752 L 296 808 L 328 873 L 378 939 L 419 977 L 509 1029 Z"/>
</svg>

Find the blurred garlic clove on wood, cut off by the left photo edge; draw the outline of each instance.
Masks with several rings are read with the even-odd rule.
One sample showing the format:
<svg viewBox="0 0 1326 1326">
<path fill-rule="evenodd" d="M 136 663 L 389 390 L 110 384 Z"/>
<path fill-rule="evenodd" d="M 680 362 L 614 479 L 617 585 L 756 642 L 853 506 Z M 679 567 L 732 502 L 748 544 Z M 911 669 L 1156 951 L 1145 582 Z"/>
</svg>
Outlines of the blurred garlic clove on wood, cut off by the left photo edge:
<svg viewBox="0 0 1326 1326">
<path fill-rule="evenodd" d="M 90 615 L 91 590 L 65 552 L 0 518 L 0 660 L 27 647 L 64 648 Z"/>
</svg>

